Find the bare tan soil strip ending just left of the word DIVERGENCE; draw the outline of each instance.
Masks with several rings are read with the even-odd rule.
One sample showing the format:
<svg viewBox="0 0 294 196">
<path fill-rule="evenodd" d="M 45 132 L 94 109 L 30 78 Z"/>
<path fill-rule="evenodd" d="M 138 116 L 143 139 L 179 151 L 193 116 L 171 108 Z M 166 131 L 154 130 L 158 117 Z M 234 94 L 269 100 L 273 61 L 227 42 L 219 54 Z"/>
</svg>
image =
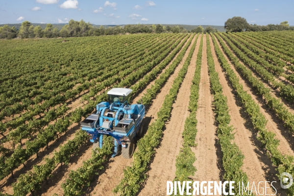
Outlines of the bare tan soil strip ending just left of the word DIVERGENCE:
<svg viewBox="0 0 294 196">
<path fill-rule="evenodd" d="M 184 122 L 189 116 L 188 104 L 190 88 L 196 69 L 196 57 L 199 49 L 200 37 L 198 37 L 196 49 L 192 56 L 188 72 L 172 105 L 172 114 L 169 122 L 166 123 L 163 132 L 163 139 L 160 147 L 156 149 L 153 162 L 150 165 L 146 185 L 139 192 L 139 195 L 163 195 L 166 190 L 166 182 L 172 181 L 175 177 L 175 159 L 182 147 L 182 132 Z M 193 43 L 191 43 L 192 46 Z M 187 50 L 189 52 L 190 48 Z M 186 53 L 187 54 L 187 53 Z M 186 55 L 182 62 L 186 59 Z"/>
</svg>

